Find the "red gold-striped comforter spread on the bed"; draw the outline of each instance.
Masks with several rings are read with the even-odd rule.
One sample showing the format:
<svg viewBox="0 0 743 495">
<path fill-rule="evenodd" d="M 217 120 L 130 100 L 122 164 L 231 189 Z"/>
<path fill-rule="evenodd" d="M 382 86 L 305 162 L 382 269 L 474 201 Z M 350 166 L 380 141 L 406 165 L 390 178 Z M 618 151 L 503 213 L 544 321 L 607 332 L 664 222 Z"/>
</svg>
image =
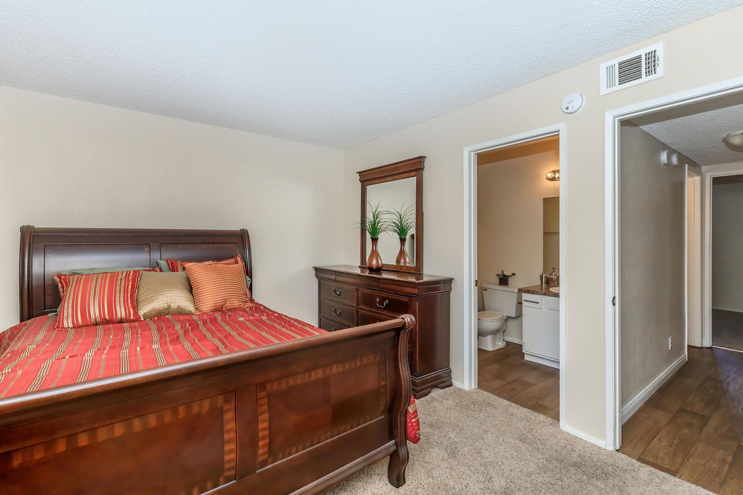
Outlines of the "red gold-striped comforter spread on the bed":
<svg viewBox="0 0 743 495">
<path fill-rule="evenodd" d="M 0 333 L 0 398 L 326 333 L 255 302 L 97 327 L 56 329 L 57 318 L 39 316 Z M 418 443 L 410 401 L 406 436 Z"/>
</svg>

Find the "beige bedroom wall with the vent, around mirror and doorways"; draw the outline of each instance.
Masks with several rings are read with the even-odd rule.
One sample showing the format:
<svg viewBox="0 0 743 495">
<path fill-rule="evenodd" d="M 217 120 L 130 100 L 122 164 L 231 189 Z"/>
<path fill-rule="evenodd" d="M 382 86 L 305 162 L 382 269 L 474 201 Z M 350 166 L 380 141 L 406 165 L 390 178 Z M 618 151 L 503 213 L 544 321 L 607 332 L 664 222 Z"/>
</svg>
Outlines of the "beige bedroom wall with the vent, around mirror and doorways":
<svg viewBox="0 0 743 495">
<path fill-rule="evenodd" d="M 463 148 L 565 122 L 567 179 L 566 266 L 562 280 L 567 335 L 565 412 L 568 427 L 603 442 L 606 438 L 606 301 L 604 281 L 604 132 L 605 112 L 648 99 L 741 75 L 730 63 L 730 46 L 739 42 L 743 7 L 607 53 L 566 71 L 484 99 L 474 105 L 349 148 L 344 155 L 345 262 L 356 263 L 359 182 L 356 171 L 426 155 L 424 171 L 424 268 L 454 278 L 451 305 L 451 366 L 464 380 L 464 169 Z M 599 64 L 655 42 L 665 42 L 666 76 L 599 96 Z M 574 116 L 560 111 L 575 91 L 586 97 Z M 568 177 L 566 177 L 566 175 Z"/>
</svg>

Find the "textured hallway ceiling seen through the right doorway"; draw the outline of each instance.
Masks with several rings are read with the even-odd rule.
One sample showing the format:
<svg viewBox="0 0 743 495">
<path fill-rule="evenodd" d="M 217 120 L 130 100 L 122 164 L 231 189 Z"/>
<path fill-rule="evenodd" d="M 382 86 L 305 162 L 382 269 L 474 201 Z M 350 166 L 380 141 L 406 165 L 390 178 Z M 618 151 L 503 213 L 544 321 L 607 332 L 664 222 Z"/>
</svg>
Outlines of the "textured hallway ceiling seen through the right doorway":
<svg viewBox="0 0 743 495">
<path fill-rule="evenodd" d="M 743 161 L 743 147 L 722 142 L 727 134 L 743 131 L 743 95 L 663 111 L 633 122 L 699 165 Z"/>
</svg>

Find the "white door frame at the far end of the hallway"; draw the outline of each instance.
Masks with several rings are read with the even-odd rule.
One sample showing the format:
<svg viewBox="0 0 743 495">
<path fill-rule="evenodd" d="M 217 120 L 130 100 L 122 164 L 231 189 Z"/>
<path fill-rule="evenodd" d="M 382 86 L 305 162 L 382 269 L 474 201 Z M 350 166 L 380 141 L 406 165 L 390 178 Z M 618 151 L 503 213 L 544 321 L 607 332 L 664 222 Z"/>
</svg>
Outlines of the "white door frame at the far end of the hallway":
<svg viewBox="0 0 743 495">
<path fill-rule="evenodd" d="M 704 191 L 704 239 L 702 243 L 702 264 L 704 271 L 702 275 L 703 306 L 701 320 L 701 342 L 703 347 L 712 347 L 712 180 L 713 177 L 724 175 L 743 174 L 743 165 L 739 164 L 716 170 L 713 172 L 702 172 L 701 187 Z"/>
</svg>

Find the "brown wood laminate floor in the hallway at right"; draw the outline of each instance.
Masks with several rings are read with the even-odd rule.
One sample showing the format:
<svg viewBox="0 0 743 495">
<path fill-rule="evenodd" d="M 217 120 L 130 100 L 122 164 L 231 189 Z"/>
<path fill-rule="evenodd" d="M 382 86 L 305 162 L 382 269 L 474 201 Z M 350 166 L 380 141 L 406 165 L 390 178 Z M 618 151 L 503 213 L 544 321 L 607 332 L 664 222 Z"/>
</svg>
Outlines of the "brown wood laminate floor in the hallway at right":
<svg viewBox="0 0 743 495">
<path fill-rule="evenodd" d="M 743 353 L 689 360 L 622 427 L 620 452 L 715 494 L 743 494 Z"/>
</svg>

